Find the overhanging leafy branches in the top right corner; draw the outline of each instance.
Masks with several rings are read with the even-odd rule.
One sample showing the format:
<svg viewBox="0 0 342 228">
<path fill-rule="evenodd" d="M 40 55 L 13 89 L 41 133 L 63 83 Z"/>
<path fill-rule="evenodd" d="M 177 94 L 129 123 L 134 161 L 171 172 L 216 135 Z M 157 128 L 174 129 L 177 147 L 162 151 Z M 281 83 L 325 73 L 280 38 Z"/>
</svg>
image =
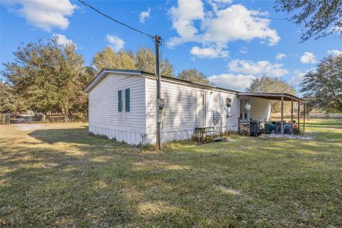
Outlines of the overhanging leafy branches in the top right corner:
<svg viewBox="0 0 342 228">
<path fill-rule="evenodd" d="M 290 14 L 289 21 L 303 25 L 301 40 L 321 38 L 334 32 L 342 38 L 341 0 L 276 0 L 276 11 Z"/>
</svg>

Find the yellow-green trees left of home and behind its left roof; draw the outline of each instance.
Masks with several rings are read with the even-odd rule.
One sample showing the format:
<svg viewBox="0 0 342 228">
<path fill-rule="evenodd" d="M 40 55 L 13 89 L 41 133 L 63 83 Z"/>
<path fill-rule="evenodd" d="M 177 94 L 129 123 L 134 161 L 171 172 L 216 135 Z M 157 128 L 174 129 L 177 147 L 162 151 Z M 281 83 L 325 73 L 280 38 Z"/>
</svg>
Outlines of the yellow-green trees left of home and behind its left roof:
<svg viewBox="0 0 342 228">
<path fill-rule="evenodd" d="M 115 53 L 108 46 L 86 66 L 74 43 L 60 45 L 55 37 L 21 45 L 14 56 L 1 71 L 6 82 L 0 81 L 0 113 L 62 113 L 65 122 L 73 113 L 87 113 L 88 98 L 83 89 L 102 68 L 155 72 L 155 53 L 147 47 L 138 48 L 136 53 Z M 160 65 L 162 75 L 175 77 L 167 58 L 161 58 Z M 196 69 L 184 70 L 177 77 L 209 84 Z"/>
</svg>

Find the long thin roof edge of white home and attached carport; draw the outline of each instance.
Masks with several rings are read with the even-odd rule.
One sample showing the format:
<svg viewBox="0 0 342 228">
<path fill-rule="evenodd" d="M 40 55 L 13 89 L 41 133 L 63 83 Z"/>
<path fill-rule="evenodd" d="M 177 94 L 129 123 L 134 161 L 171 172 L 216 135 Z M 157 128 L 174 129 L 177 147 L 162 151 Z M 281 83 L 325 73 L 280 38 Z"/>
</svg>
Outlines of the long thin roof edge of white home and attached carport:
<svg viewBox="0 0 342 228">
<path fill-rule="evenodd" d="M 127 76 L 155 76 L 154 73 L 146 72 L 146 71 L 135 71 L 135 70 L 115 70 L 115 69 L 109 69 L 109 68 L 103 68 L 97 76 L 89 83 L 89 85 L 83 90 L 84 93 L 89 93 L 90 90 L 92 90 L 108 73 L 116 73 L 121 75 L 127 75 Z M 254 96 L 259 98 L 266 98 L 270 100 L 281 100 L 281 97 L 284 98 L 284 100 L 292 100 L 305 102 L 305 100 L 296 97 L 295 95 L 291 95 L 288 93 L 247 93 L 247 92 L 239 92 L 237 90 L 229 90 L 227 88 L 219 88 L 217 86 L 209 86 L 202 83 L 195 83 L 192 81 L 187 81 L 180 78 L 174 78 L 174 77 L 168 77 L 168 76 L 162 76 L 162 78 L 167 79 L 169 81 L 178 81 L 182 83 L 188 83 L 190 86 L 201 86 L 204 88 L 211 88 L 211 89 L 219 89 L 219 90 L 225 90 L 230 93 L 236 93 L 237 95 L 247 95 L 247 96 Z"/>
</svg>

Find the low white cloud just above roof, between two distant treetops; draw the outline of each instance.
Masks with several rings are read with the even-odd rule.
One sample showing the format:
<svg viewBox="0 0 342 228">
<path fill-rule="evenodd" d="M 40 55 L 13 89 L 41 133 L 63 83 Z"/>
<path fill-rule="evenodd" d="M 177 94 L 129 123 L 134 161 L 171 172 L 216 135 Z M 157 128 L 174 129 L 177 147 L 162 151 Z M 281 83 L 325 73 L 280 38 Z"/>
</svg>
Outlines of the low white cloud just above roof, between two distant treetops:
<svg viewBox="0 0 342 228">
<path fill-rule="evenodd" d="M 219 75 L 209 76 L 208 79 L 217 87 L 228 88 L 231 90 L 244 90 L 256 78 L 251 75 L 234 75 L 233 73 L 222 73 Z"/>
</svg>

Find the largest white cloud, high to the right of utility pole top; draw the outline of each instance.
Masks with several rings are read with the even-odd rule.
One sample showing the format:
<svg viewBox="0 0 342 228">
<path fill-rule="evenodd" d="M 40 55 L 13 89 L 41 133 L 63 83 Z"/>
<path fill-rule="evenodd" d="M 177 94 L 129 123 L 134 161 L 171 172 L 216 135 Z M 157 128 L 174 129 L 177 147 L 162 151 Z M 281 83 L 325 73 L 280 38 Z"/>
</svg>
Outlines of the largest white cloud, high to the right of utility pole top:
<svg viewBox="0 0 342 228">
<path fill-rule="evenodd" d="M 169 12 L 172 26 L 178 33 L 167 42 L 169 47 L 185 42 L 220 47 L 227 46 L 230 41 L 251 41 L 254 38 L 275 45 L 280 40 L 276 30 L 269 28 L 270 20 L 261 18 L 265 12 L 248 10 L 240 4 L 204 14 L 202 1 L 178 1 L 177 7 L 172 6 Z M 199 22 L 200 31 L 195 22 Z"/>
</svg>

